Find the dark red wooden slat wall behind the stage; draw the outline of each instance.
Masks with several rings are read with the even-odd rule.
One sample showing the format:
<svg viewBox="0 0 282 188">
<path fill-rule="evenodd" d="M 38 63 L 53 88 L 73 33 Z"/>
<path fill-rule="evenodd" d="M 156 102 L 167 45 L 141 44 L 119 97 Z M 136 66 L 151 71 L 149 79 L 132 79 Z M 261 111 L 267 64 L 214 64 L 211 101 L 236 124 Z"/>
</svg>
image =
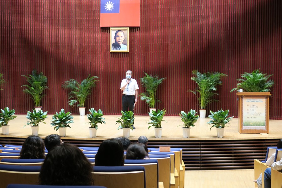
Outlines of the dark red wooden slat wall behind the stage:
<svg viewBox="0 0 282 188">
<path fill-rule="evenodd" d="M 274 75 L 270 119 L 282 119 L 280 0 L 142 0 L 141 26 L 130 28 L 129 53 L 109 52 L 109 28 L 99 25 L 99 0 L 3 0 L 0 9 L 0 72 L 8 82 L 0 91 L 0 108 L 8 106 L 17 114 L 33 108 L 22 92 L 26 80 L 21 75 L 35 68 L 49 79 L 42 101 L 49 114 L 61 108 L 77 114 L 61 84 L 91 74 L 100 82 L 86 107 L 120 115 L 120 81 L 129 69 L 139 92 L 144 91 L 139 81 L 143 71 L 167 77 L 157 107 L 177 115 L 198 108 L 196 97 L 187 92 L 196 86 L 190 77 L 198 69 L 228 75 L 218 88 L 220 102 L 208 110 L 230 109 L 237 116 L 237 97 L 230 90 L 244 71 L 260 68 Z M 135 114 L 147 111 L 139 101 Z"/>
</svg>

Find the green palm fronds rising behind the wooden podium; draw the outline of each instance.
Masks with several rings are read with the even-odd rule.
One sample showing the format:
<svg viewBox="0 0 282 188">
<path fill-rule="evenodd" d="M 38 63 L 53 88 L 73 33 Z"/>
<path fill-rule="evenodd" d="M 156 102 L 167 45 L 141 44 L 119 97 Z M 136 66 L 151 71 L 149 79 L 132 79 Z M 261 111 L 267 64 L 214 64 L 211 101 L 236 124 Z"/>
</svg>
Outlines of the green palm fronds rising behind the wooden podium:
<svg viewBox="0 0 282 188">
<path fill-rule="evenodd" d="M 239 91 L 243 89 L 244 92 L 269 92 L 270 88 L 274 85 L 273 80 L 268 80 L 271 75 L 263 74 L 259 69 L 253 70 L 251 73 L 244 72 L 241 78 L 238 78 L 236 88 L 232 91 Z"/>
</svg>

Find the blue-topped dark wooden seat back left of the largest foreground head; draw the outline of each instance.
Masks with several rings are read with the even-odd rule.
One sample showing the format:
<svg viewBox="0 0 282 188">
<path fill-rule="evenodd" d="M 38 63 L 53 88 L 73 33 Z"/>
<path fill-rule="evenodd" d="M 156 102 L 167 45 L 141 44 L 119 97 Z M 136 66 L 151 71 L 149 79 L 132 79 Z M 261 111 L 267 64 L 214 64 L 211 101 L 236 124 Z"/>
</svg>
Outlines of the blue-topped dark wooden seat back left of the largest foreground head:
<svg viewBox="0 0 282 188">
<path fill-rule="evenodd" d="M 41 166 L 0 165 L 2 187 L 9 184 L 38 184 Z"/>
</svg>

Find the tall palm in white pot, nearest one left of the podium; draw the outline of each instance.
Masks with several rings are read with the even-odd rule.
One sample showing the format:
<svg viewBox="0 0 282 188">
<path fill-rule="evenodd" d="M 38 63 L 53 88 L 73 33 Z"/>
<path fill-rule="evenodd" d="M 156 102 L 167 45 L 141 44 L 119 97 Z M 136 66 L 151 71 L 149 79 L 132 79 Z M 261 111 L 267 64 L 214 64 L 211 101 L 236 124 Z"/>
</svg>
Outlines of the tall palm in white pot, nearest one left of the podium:
<svg viewBox="0 0 282 188">
<path fill-rule="evenodd" d="M 215 93 L 217 91 L 217 85 L 222 85 L 221 78 L 223 76 L 227 76 L 220 72 L 207 72 L 201 73 L 198 70 L 192 71 L 191 80 L 195 81 L 198 85 L 194 90 L 188 90 L 194 93 L 199 101 L 200 105 L 200 118 L 206 118 L 206 106 L 214 101 L 214 95 L 218 95 Z"/>
</svg>

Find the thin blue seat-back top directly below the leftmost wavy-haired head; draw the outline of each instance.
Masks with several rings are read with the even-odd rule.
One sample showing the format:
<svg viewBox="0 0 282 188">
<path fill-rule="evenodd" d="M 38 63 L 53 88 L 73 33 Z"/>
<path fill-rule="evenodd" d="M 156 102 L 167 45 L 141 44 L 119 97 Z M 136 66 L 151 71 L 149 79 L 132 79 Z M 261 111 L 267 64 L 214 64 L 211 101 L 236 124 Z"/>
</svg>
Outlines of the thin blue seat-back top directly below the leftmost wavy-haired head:
<svg viewBox="0 0 282 188">
<path fill-rule="evenodd" d="M 43 162 L 44 159 L 2 159 L 0 161 L 0 164 L 38 166 L 38 165 L 42 165 Z"/>
</svg>

